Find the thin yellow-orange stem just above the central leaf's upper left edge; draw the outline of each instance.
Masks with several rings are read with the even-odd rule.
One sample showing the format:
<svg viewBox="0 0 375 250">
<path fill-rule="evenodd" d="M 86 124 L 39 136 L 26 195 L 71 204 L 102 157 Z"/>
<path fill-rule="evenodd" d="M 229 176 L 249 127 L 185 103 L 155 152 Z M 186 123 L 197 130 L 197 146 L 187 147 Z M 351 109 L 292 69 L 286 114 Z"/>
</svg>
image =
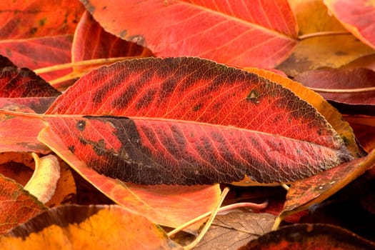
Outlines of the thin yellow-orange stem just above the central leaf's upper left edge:
<svg viewBox="0 0 375 250">
<path fill-rule="evenodd" d="M 113 57 L 113 58 L 104 58 L 104 59 L 92 59 L 92 60 L 85 60 L 85 61 L 74 61 L 67 64 L 58 64 L 54 66 L 49 66 L 45 68 L 35 69 L 35 74 L 42 74 L 42 73 L 48 73 L 51 71 L 58 71 L 60 69 L 69 69 L 74 66 L 90 66 L 95 64 L 111 64 L 116 61 L 123 61 L 126 59 L 134 59 L 136 56 L 124 56 L 124 57 Z"/>
</svg>

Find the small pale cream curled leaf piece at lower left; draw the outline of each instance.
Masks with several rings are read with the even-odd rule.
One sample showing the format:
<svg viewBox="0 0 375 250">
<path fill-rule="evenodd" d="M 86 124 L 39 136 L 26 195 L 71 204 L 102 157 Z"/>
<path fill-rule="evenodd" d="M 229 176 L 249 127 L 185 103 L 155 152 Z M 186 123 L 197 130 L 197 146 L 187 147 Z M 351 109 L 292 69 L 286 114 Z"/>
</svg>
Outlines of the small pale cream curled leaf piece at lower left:
<svg viewBox="0 0 375 250">
<path fill-rule="evenodd" d="M 41 203 L 46 204 L 51 200 L 56 191 L 57 181 L 60 179 L 59 161 L 54 155 L 39 156 L 33 153 L 35 160 L 34 174 L 24 186 L 26 191 L 39 199 Z"/>
</svg>

